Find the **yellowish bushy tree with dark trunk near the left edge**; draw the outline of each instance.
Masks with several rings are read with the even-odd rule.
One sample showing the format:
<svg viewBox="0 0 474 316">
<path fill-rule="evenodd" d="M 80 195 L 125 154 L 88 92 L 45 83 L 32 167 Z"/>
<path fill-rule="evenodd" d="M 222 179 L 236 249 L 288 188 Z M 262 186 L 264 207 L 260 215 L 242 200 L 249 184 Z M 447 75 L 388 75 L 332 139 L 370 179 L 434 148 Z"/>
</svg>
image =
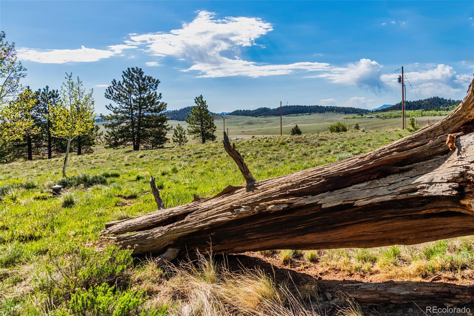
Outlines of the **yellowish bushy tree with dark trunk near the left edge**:
<svg viewBox="0 0 474 316">
<path fill-rule="evenodd" d="M 21 92 L 17 99 L 0 109 L 2 121 L 2 138 L 6 142 L 25 139 L 27 142 L 28 160 L 33 160 L 33 136 L 40 132 L 35 124 L 36 99 L 30 89 Z"/>
</svg>

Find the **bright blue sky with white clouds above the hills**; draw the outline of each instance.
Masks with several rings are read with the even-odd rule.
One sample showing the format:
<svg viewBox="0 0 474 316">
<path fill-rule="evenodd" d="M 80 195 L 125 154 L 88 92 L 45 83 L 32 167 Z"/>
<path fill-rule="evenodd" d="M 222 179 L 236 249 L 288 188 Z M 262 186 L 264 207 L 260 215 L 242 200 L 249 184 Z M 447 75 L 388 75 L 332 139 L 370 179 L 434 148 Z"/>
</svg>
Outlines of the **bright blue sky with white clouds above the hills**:
<svg viewBox="0 0 474 316">
<path fill-rule="evenodd" d="M 21 18 L 18 14 L 21 13 Z M 473 79 L 473 1 L 1 1 L 23 84 L 94 89 L 127 67 L 158 78 L 168 109 L 202 94 L 211 111 L 319 104 L 376 108 L 462 99 Z"/>
</svg>

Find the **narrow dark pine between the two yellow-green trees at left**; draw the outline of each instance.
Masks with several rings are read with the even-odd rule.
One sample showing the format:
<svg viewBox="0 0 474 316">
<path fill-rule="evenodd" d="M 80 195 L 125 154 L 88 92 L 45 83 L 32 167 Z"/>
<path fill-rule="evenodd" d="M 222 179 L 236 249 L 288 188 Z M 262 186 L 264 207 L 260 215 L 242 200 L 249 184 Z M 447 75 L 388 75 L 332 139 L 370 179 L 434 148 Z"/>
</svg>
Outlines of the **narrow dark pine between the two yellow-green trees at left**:
<svg viewBox="0 0 474 316">
<path fill-rule="evenodd" d="M 54 144 L 53 136 L 51 135 L 51 127 L 53 127 L 51 108 L 55 107 L 59 102 L 59 92 L 58 90 L 49 90 L 49 87 L 46 86 L 43 90 L 36 90 L 35 98 L 38 124 L 41 126 L 42 132 L 41 138 L 46 140 L 48 159 L 50 159 Z"/>
</svg>

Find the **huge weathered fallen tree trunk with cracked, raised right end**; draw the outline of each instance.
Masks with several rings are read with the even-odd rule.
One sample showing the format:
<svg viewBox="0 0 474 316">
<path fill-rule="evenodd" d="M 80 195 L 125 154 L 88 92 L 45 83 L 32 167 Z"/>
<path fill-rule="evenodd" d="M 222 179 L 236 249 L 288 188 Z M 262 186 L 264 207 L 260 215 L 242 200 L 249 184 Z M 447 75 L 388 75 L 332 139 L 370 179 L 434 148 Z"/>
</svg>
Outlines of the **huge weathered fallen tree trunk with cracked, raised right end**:
<svg viewBox="0 0 474 316">
<path fill-rule="evenodd" d="M 373 152 L 228 186 L 211 198 L 108 223 L 101 234 L 118 235 L 115 242 L 136 255 L 166 258 L 170 249 L 377 247 L 473 235 L 473 108 L 471 83 L 445 119 Z"/>
</svg>

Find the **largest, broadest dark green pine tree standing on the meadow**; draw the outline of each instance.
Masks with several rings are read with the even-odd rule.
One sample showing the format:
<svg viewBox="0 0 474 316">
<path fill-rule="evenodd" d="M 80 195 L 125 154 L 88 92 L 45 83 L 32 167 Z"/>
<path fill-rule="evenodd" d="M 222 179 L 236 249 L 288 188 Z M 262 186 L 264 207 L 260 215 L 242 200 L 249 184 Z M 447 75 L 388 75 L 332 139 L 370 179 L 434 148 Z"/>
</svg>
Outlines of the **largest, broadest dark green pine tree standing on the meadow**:
<svg viewBox="0 0 474 316">
<path fill-rule="evenodd" d="M 117 106 L 106 108 L 113 114 L 102 115 L 108 121 L 105 142 L 109 147 L 133 145 L 133 150 L 141 146 L 163 147 L 168 141 L 166 132 L 170 130 L 168 117 L 163 113 L 166 103 L 161 102 L 157 93 L 160 81 L 146 76 L 141 68 L 128 68 L 122 72 L 122 81 L 113 80 L 105 97 Z"/>
</svg>

